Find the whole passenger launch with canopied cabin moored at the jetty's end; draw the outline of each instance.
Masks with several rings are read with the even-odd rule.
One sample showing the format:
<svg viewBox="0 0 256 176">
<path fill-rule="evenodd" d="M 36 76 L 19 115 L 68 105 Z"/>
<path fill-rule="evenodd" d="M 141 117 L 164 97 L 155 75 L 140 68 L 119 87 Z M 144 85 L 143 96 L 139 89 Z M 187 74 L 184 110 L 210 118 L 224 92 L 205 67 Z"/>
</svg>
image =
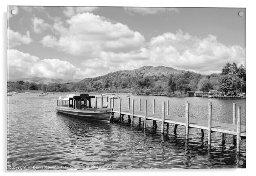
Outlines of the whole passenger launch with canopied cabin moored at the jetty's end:
<svg viewBox="0 0 256 176">
<path fill-rule="evenodd" d="M 91 105 L 95 96 L 87 93 L 80 95 L 70 94 L 66 97 L 60 96 L 57 99 L 57 112 L 74 117 L 91 120 L 111 120 L 111 109 L 108 107 L 97 108 Z"/>
</svg>

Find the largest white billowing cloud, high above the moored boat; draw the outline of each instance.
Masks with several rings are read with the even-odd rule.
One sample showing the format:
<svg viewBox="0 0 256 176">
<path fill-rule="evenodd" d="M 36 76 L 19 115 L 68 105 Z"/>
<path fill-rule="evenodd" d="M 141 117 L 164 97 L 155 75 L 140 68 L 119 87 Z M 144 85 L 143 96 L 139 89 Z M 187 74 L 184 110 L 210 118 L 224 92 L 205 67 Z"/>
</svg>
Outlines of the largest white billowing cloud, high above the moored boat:
<svg viewBox="0 0 256 176">
<path fill-rule="evenodd" d="M 77 14 L 67 20 L 68 28 L 54 24 L 60 38 L 46 36 L 45 47 L 68 52 L 71 55 L 98 57 L 100 51 L 130 52 L 142 47 L 144 36 L 122 23 L 113 23 L 91 13 Z M 59 30 L 60 29 L 60 30 Z"/>
</svg>

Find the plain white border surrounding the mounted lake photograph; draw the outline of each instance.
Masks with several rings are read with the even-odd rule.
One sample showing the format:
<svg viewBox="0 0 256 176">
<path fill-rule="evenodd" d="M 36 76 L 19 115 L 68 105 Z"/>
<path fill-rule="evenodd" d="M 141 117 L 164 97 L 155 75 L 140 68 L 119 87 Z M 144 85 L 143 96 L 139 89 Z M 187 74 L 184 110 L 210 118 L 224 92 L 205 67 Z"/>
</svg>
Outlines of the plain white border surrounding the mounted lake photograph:
<svg viewBox="0 0 256 176">
<path fill-rule="evenodd" d="M 0 92 L 2 93 L 2 103 L 1 103 L 1 152 L 0 152 L 0 168 L 2 172 L 6 174 L 6 9 L 7 5 L 52 5 L 52 6 L 159 6 L 159 7 L 236 7 L 236 8 L 246 8 L 246 71 L 247 71 L 247 99 L 246 99 L 246 121 L 247 121 L 247 142 L 246 142 L 246 169 L 214 169 L 214 170 L 205 170 L 205 169 L 194 169 L 194 170 L 93 170 L 93 171 L 85 171 L 82 173 L 76 172 L 75 174 L 106 174 L 106 175 L 131 175 L 134 173 L 147 172 L 146 174 L 155 175 L 157 173 L 162 174 L 179 174 L 179 175 L 205 175 L 208 176 L 216 176 L 222 172 L 224 174 L 229 175 L 245 175 L 249 174 L 249 172 L 253 172 L 254 170 L 254 161 L 255 161 L 255 129 L 256 124 L 256 114 L 255 112 L 255 103 L 254 96 L 256 96 L 256 85 L 255 82 L 255 6 L 253 1 L 245 1 L 245 0 L 232 0 L 232 1 L 224 1 L 224 0 L 179 0 L 179 1 L 167 1 L 167 0 L 147 0 L 147 1 L 139 1 L 139 0 L 93 0 L 93 1 L 81 1 L 81 0 L 62 0 L 62 1 L 53 1 L 53 0 L 8 0 L 1 1 L 1 34 L 2 41 L 1 43 L 1 82 L 3 83 L 0 86 Z M 235 36 L 234 36 L 235 37 Z M 57 172 L 57 171 L 54 171 Z M 59 171 L 60 172 L 60 171 Z M 122 173 L 120 173 L 122 172 Z M 8 173 L 8 172 L 7 172 Z M 13 173 L 12 173 L 13 174 Z M 21 175 L 34 175 L 35 173 L 29 172 L 18 172 L 17 174 Z M 36 173 L 39 175 L 44 175 L 45 173 Z M 70 172 L 63 172 L 61 174 L 68 175 Z"/>
</svg>

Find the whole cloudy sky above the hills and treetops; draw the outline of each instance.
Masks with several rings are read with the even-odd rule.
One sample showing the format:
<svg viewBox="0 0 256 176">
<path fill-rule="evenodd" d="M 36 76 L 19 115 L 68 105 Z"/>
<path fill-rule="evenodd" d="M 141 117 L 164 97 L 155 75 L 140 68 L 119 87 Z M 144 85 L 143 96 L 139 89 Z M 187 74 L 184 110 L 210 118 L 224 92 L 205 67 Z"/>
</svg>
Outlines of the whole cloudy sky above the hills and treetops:
<svg viewBox="0 0 256 176">
<path fill-rule="evenodd" d="M 9 6 L 7 34 L 10 81 L 245 65 L 245 8 Z"/>
</svg>

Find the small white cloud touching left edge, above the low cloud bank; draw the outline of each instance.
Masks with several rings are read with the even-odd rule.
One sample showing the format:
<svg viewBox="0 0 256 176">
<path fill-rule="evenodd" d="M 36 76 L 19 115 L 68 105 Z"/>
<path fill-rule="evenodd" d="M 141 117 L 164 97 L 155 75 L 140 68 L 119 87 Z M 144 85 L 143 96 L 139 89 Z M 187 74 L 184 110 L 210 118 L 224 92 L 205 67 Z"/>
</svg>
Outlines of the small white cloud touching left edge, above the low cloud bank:
<svg viewBox="0 0 256 176">
<path fill-rule="evenodd" d="M 29 31 L 26 32 L 26 35 L 21 35 L 19 32 L 14 32 L 10 28 L 8 28 L 7 32 L 8 32 L 9 48 L 12 48 L 21 44 L 30 44 L 32 42 Z"/>
</svg>

